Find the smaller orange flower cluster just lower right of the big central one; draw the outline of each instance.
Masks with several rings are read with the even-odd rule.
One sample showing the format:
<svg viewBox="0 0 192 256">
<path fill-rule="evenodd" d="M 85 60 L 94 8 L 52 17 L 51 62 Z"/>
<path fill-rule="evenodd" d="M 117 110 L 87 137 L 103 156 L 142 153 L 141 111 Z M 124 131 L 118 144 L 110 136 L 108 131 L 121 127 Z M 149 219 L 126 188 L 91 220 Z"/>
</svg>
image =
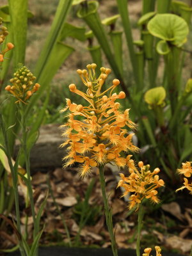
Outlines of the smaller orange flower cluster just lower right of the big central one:
<svg viewBox="0 0 192 256">
<path fill-rule="evenodd" d="M 118 187 L 125 189 L 124 195 L 128 193 L 133 193 L 129 199 L 129 209 L 133 207 L 139 207 L 141 201 L 144 198 L 149 198 L 152 202 L 158 204 L 159 198 L 157 197 L 157 188 L 164 186 L 164 181 L 159 179 L 157 173 L 160 172 L 159 168 L 156 168 L 153 172 L 149 170 L 150 165 L 143 165 L 143 162 L 139 162 L 138 166 L 140 171 L 134 165 L 132 161 L 132 166 L 129 167 L 129 177 L 125 177 L 123 173 L 120 173 L 120 181 L 118 182 Z"/>
</svg>

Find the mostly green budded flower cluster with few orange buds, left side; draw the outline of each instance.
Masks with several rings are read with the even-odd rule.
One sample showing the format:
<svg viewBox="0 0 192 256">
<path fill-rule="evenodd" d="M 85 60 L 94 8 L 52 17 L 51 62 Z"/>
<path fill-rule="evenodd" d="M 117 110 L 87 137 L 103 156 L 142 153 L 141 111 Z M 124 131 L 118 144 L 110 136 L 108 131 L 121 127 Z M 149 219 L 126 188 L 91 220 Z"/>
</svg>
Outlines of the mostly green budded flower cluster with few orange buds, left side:
<svg viewBox="0 0 192 256">
<path fill-rule="evenodd" d="M 12 86 L 6 86 L 5 90 L 12 93 L 18 102 L 22 102 L 27 104 L 27 100 L 33 93 L 35 93 L 38 88 L 40 88 L 40 84 L 34 84 L 35 76 L 30 72 L 28 68 L 25 66 L 19 68 L 17 72 L 14 73 L 14 77 L 10 79 L 10 82 L 13 84 Z"/>
</svg>

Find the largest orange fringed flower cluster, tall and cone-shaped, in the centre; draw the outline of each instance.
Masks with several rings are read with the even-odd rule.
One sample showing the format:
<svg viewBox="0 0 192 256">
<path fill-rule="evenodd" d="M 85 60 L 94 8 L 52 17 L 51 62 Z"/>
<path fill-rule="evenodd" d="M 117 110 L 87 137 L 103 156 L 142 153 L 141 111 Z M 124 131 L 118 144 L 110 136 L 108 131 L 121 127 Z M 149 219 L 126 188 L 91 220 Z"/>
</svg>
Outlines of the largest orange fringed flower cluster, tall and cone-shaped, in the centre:
<svg viewBox="0 0 192 256">
<path fill-rule="evenodd" d="M 132 144 L 133 133 L 126 127 L 134 129 L 136 125 L 129 119 L 129 109 L 122 111 L 118 99 L 124 99 L 125 93 L 113 93 L 120 84 L 118 79 L 107 90 L 101 92 L 111 70 L 100 68 L 100 76 L 95 76 L 95 63 L 86 66 L 88 70 L 77 70 L 86 93 L 78 90 L 75 84 L 69 85 L 70 92 L 83 97 L 88 106 L 72 103 L 67 99 L 67 106 L 61 112 L 69 109 L 67 127 L 63 136 L 68 140 L 61 147 L 68 146 L 68 154 L 63 157 L 67 160 L 64 167 L 75 162 L 81 163 L 81 177 L 88 175 L 92 167 L 113 161 L 117 166 L 124 167 L 129 162 L 125 152 L 137 151 Z"/>
</svg>

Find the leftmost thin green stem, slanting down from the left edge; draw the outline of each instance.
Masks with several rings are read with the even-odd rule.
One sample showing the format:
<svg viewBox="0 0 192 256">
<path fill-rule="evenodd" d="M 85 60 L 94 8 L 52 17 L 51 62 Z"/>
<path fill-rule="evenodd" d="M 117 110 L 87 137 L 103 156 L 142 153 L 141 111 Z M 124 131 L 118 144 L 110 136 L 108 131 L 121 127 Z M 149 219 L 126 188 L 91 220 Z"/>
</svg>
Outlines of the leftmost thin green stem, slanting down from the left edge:
<svg viewBox="0 0 192 256">
<path fill-rule="evenodd" d="M 10 154 L 10 147 L 9 147 L 9 143 L 8 143 L 8 136 L 6 133 L 6 128 L 4 127 L 4 122 L 3 122 L 3 116 L 0 113 L 0 126 L 1 126 L 1 130 L 3 132 L 3 138 L 4 138 L 4 145 L 6 148 L 6 156 L 8 158 L 8 164 L 10 166 L 10 170 L 12 173 L 12 179 L 13 179 L 13 191 L 14 191 L 14 196 L 15 196 L 15 212 L 16 212 L 16 218 L 17 218 L 17 230 L 19 232 L 19 234 L 21 235 L 21 230 L 20 230 L 20 212 L 19 212 L 19 193 L 18 193 L 18 189 L 17 189 L 17 172 L 15 172 L 14 167 L 13 167 L 13 163 L 12 163 L 12 156 Z M 25 256 L 25 252 L 24 252 L 24 247 L 22 244 L 22 241 L 19 241 L 19 249 L 20 249 L 20 254 L 22 256 Z"/>
</svg>

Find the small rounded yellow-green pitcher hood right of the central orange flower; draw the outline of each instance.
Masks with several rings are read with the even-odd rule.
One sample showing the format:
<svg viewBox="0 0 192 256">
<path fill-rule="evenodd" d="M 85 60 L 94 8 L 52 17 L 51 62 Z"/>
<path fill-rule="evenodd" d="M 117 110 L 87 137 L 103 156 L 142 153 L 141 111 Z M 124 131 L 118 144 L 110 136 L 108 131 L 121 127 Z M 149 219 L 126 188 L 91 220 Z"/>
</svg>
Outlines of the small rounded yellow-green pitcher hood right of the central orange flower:
<svg viewBox="0 0 192 256">
<path fill-rule="evenodd" d="M 150 106 L 163 106 L 165 97 L 166 91 L 163 86 L 152 88 L 144 95 L 145 102 Z"/>
</svg>

